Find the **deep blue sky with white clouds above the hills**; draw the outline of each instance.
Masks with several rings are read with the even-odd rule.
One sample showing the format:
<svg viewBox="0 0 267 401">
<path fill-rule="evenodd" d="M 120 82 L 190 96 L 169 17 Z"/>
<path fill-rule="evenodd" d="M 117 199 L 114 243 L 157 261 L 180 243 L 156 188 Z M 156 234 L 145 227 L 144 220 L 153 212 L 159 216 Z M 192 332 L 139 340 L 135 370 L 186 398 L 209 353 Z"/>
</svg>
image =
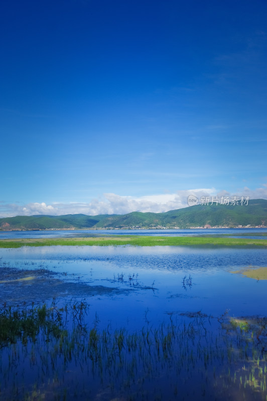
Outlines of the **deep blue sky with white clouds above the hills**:
<svg viewBox="0 0 267 401">
<path fill-rule="evenodd" d="M 3 0 L 0 216 L 267 198 L 267 3 Z"/>
</svg>

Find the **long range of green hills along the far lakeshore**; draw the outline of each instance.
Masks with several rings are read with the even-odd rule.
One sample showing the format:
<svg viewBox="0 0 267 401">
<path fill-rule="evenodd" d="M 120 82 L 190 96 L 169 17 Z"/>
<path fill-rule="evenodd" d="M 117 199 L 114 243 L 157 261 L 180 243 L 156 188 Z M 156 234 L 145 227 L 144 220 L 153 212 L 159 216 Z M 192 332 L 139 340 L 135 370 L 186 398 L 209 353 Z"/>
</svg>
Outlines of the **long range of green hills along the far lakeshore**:
<svg viewBox="0 0 267 401">
<path fill-rule="evenodd" d="M 82 214 L 16 216 L 0 219 L 0 230 L 123 229 L 267 226 L 267 200 L 251 199 L 244 205 L 196 205 L 165 213 L 132 212 L 126 215 Z"/>
</svg>

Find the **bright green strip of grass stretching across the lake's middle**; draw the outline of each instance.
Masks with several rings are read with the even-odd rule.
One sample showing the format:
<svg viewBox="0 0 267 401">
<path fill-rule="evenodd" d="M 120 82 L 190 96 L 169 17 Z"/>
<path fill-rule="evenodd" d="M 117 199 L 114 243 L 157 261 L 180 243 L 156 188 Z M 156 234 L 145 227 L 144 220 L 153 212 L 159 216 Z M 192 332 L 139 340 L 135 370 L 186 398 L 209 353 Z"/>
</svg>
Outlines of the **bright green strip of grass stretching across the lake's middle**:
<svg viewBox="0 0 267 401">
<path fill-rule="evenodd" d="M 112 236 L 112 237 L 90 237 L 90 238 L 60 238 L 60 239 L 18 239 L 2 240 L 0 248 L 20 248 L 23 246 L 43 247 L 54 245 L 134 245 L 143 247 L 154 246 L 246 246 L 246 247 L 265 247 L 267 240 L 247 239 L 247 238 L 214 238 L 214 237 L 152 237 L 152 236 Z"/>
</svg>

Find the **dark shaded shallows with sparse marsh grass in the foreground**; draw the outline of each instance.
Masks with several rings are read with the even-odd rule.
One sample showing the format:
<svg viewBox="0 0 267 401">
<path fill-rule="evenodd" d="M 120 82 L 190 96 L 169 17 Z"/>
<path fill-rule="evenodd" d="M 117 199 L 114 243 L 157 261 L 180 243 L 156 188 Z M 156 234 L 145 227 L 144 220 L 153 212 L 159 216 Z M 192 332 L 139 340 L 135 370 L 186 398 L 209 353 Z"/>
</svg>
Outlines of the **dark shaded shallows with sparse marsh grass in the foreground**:
<svg viewBox="0 0 267 401">
<path fill-rule="evenodd" d="M 89 306 L 3 307 L 0 398 L 266 399 L 265 319 L 191 313 L 103 330 Z M 238 396 L 236 395 L 238 394 Z"/>
</svg>

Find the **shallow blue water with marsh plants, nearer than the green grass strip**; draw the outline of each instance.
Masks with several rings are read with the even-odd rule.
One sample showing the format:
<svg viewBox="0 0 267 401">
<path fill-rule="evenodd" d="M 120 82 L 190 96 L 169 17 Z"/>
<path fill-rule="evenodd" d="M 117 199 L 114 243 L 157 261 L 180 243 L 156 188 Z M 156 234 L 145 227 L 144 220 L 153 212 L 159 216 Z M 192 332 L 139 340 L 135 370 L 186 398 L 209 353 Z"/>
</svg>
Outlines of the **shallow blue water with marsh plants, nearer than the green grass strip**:
<svg viewBox="0 0 267 401">
<path fill-rule="evenodd" d="M 266 400 L 266 256 L 1 249 L 0 399 Z"/>
</svg>

